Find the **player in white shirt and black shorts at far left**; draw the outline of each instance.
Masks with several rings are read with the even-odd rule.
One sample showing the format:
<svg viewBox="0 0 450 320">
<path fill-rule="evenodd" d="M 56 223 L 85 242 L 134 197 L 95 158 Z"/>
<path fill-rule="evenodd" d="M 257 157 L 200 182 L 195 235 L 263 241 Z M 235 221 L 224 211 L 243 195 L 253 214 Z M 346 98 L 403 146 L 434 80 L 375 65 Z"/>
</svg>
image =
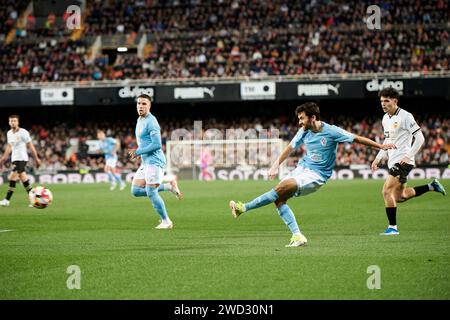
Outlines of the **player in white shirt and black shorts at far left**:
<svg viewBox="0 0 450 320">
<path fill-rule="evenodd" d="M 27 147 L 30 148 L 31 153 L 36 160 L 36 166 L 39 167 L 41 165 L 41 160 L 39 159 L 36 149 L 31 142 L 30 133 L 19 127 L 18 115 L 9 116 L 9 126 L 11 127 L 11 130 L 7 133 L 7 146 L 5 153 L 0 158 L 0 164 L 3 164 L 11 154 L 12 172 L 8 178 L 9 188 L 6 193 L 6 197 L 0 201 L 0 206 L 2 207 L 9 206 L 9 201 L 16 188 L 17 179 L 22 181 L 23 187 L 27 191 L 27 196 L 31 189 L 33 189 L 25 172 L 25 167 L 28 162 Z"/>
</svg>

